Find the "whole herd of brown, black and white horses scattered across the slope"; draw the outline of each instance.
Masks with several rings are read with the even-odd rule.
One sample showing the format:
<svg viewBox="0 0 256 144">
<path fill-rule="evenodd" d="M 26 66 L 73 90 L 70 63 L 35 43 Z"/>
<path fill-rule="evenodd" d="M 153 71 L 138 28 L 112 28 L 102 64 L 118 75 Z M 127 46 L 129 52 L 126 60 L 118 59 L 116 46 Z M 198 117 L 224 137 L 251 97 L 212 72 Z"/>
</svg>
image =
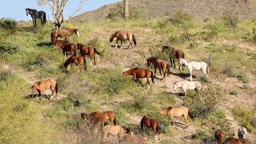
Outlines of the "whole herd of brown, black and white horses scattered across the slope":
<svg viewBox="0 0 256 144">
<path fill-rule="evenodd" d="M 26 9 L 26 14 L 30 14 L 33 18 L 34 26 L 36 25 L 36 21 L 34 19 L 36 18 L 42 18 L 42 24 L 46 22 L 45 19 L 45 13 L 42 11 L 37 10 L 31 10 Z M 78 29 L 59 29 L 59 30 L 53 30 L 50 34 L 50 40 L 54 44 L 55 48 L 60 47 L 63 51 L 63 56 L 67 58 L 68 52 L 70 53 L 70 58 L 67 58 L 66 62 L 64 62 L 64 67 L 67 68 L 71 64 L 75 64 L 79 66 L 80 72 L 82 71 L 82 68 L 86 70 L 86 55 L 89 55 L 91 59 L 94 59 L 94 65 L 96 65 L 95 61 L 95 54 L 102 55 L 94 46 L 84 46 L 81 43 L 72 43 L 67 40 L 67 38 L 71 34 L 76 34 L 77 37 L 79 37 Z M 65 38 L 65 40 L 58 40 L 58 38 Z M 110 42 L 113 42 L 114 38 L 117 38 L 115 47 L 118 46 L 118 41 L 129 40 L 130 44 L 127 47 L 131 46 L 131 49 L 134 49 L 134 46 L 137 45 L 135 36 L 130 31 L 125 30 L 118 30 L 114 32 L 114 34 L 110 34 Z M 77 56 L 77 51 L 80 51 L 80 56 Z M 133 81 L 138 82 L 138 86 L 141 83 L 141 80 L 139 78 L 146 78 L 146 85 L 147 88 L 150 88 L 150 78 L 151 81 L 154 83 L 154 78 L 156 78 L 156 72 L 157 69 L 159 70 L 159 73 L 161 75 L 162 82 L 166 81 L 166 76 L 170 74 L 170 66 L 175 65 L 175 59 L 178 61 L 178 70 L 180 70 L 180 67 L 182 66 L 182 70 L 184 70 L 184 66 L 188 68 L 190 71 L 190 77 L 188 80 L 182 80 L 179 82 L 174 82 L 174 90 L 177 90 L 178 88 L 181 88 L 184 91 L 184 94 L 186 95 L 186 90 L 201 90 L 202 84 L 197 81 L 193 81 L 192 79 L 192 70 L 202 70 L 204 74 L 208 77 L 209 75 L 209 65 L 206 62 L 193 62 L 185 58 L 184 52 L 182 50 L 175 49 L 171 46 L 162 46 L 162 52 L 169 51 L 170 53 L 170 64 L 166 60 L 162 60 L 161 58 L 157 57 L 150 57 L 146 59 L 146 66 L 150 66 L 151 64 L 154 65 L 154 72 L 150 69 L 142 68 L 142 67 L 134 67 L 130 68 L 130 70 L 126 70 L 123 72 L 123 75 L 125 76 L 133 76 Z M 50 98 L 54 98 L 54 93 L 58 94 L 58 82 L 54 78 L 50 78 L 46 81 L 40 81 L 35 82 L 33 86 L 31 86 L 34 94 L 34 90 L 38 91 L 38 95 L 40 98 L 42 98 L 42 94 L 44 93 L 44 90 L 50 89 L 52 90 L 52 94 Z M 202 100 L 202 98 L 201 98 Z M 190 111 L 185 106 L 170 106 L 167 107 L 164 110 L 158 111 L 158 114 L 166 115 L 170 118 L 170 121 L 175 126 L 175 120 L 174 118 L 180 118 L 183 116 L 185 121 L 184 128 L 187 128 L 188 125 L 188 116 L 193 119 L 192 114 L 190 114 Z M 107 135 L 114 135 L 118 137 L 127 137 L 127 138 L 133 138 L 134 134 L 133 131 L 126 128 L 125 126 L 117 125 L 117 117 L 114 111 L 105 111 L 105 112 L 98 112 L 95 111 L 91 114 L 81 113 L 80 118 L 82 120 L 85 120 L 86 122 L 92 123 L 92 127 L 95 130 L 101 130 L 103 134 L 103 140 L 106 138 Z M 104 126 L 104 123 L 106 121 L 110 121 L 110 125 Z M 141 122 L 140 122 L 141 130 L 143 132 L 144 127 L 150 127 L 154 131 L 155 138 L 160 139 L 160 123 L 158 120 L 155 120 L 154 118 L 150 118 L 146 115 L 143 116 Z M 241 131 L 241 130 L 240 130 Z M 245 130 L 242 130 L 245 131 Z M 243 136 L 241 138 L 227 138 L 226 143 L 243 143 L 245 142 L 245 133 L 242 133 Z M 241 135 L 241 134 L 240 134 Z M 135 137 L 134 137 L 135 138 Z M 224 138 L 224 132 L 222 130 L 217 130 L 215 133 L 215 138 L 218 143 L 223 142 Z M 141 139 L 143 142 L 143 140 Z"/>
</svg>

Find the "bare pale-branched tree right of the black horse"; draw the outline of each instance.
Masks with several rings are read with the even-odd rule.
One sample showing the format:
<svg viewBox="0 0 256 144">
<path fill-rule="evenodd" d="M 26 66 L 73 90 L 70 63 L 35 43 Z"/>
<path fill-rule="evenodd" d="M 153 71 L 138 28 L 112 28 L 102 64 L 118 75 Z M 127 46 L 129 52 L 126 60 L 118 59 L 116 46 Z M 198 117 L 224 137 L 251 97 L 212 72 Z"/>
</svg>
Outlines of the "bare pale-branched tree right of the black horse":
<svg viewBox="0 0 256 144">
<path fill-rule="evenodd" d="M 64 22 L 63 11 L 65 10 L 66 3 L 70 0 L 37 0 L 38 6 L 49 6 L 52 14 L 54 16 L 54 25 L 57 29 L 62 26 L 62 22 Z M 71 14 L 70 18 L 74 17 L 74 14 L 78 13 L 84 6 L 87 0 L 80 0 L 78 8 L 74 10 L 74 13 Z"/>
</svg>

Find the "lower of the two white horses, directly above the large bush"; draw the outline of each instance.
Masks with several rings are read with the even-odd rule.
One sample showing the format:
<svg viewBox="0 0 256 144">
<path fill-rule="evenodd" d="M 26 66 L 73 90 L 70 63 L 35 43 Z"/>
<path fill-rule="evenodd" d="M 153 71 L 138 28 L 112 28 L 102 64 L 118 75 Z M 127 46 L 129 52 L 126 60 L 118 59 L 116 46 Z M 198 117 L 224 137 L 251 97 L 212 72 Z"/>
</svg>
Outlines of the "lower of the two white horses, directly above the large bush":
<svg viewBox="0 0 256 144">
<path fill-rule="evenodd" d="M 184 91 L 184 94 L 186 96 L 186 90 L 201 90 L 202 85 L 200 82 L 197 81 L 179 81 L 179 82 L 174 82 L 174 91 L 177 90 L 177 88 L 180 87 Z"/>
</svg>

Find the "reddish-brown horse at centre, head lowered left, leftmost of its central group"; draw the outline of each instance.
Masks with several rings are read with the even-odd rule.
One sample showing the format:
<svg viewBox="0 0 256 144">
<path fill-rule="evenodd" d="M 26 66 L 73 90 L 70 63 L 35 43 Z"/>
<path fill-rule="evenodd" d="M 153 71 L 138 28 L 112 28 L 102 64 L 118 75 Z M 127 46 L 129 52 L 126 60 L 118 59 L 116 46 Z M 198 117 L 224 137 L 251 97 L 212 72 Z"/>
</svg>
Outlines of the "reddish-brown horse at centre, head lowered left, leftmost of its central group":
<svg viewBox="0 0 256 144">
<path fill-rule="evenodd" d="M 123 72 L 122 74 L 125 76 L 132 75 L 134 82 L 138 82 L 138 86 L 139 86 L 138 78 L 146 78 L 146 84 L 148 84 L 148 87 L 150 87 L 150 78 L 151 78 L 151 81 L 154 83 L 154 74 L 153 74 L 153 71 L 150 69 L 135 67 Z"/>
</svg>

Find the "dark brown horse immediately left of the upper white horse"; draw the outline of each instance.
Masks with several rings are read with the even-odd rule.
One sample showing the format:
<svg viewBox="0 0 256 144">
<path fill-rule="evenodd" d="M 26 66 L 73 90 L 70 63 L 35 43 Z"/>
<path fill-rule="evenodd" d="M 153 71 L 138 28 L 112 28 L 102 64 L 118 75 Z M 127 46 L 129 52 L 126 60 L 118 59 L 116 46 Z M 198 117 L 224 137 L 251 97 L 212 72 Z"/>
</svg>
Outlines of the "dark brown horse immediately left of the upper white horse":
<svg viewBox="0 0 256 144">
<path fill-rule="evenodd" d="M 178 70 L 180 70 L 182 63 L 179 60 L 185 58 L 183 51 L 170 46 L 162 46 L 162 51 L 164 50 L 170 50 L 170 64 L 174 66 L 174 68 L 176 68 L 174 58 L 178 59 Z M 182 65 L 182 70 L 184 70 L 184 65 Z"/>
</svg>

